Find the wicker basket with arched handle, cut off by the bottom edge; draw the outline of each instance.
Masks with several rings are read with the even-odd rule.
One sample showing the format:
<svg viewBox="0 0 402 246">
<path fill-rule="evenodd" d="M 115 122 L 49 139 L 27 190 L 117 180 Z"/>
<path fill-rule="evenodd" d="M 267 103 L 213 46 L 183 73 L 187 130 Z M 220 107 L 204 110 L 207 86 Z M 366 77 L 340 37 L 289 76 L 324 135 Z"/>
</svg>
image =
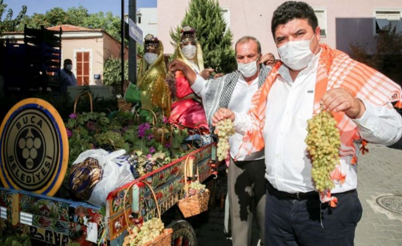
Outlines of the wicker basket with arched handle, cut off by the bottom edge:
<svg viewBox="0 0 402 246">
<path fill-rule="evenodd" d="M 143 182 L 143 181 L 134 181 L 133 183 L 130 184 L 130 186 L 127 188 L 126 192 L 124 193 L 124 198 L 123 201 L 126 200 L 126 196 L 127 196 L 127 192 L 130 190 L 130 188 L 134 185 L 141 182 L 142 184 L 145 184 L 148 186 L 148 188 L 150 188 L 152 196 L 155 199 L 155 205 L 156 205 L 156 210 L 158 212 L 158 217 L 159 219 L 161 218 L 161 214 L 160 214 L 160 208 L 158 205 L 158 200 L 156 199 L 156 195 L 154 190 L 152 189 L 152 186 L 150 184 L 148 184 L 147 182 Z M 126 206 L 123 206 L 123 210 L 124 210 L 124 219 L 126 220 L 126 224 L 130 225 L 127 219 L 127 212 L 126 212 Z M 157 236 L 156 238 L 154 238 L 152 241 L 149 241 L 145 244 L 141 244 L 140 246 L 170 246 L 171 245 L 171 234 L 173 234 L 173 229 L 171 228 L 165 228 L 163 229 L 163 232 Z"/>
</svg>

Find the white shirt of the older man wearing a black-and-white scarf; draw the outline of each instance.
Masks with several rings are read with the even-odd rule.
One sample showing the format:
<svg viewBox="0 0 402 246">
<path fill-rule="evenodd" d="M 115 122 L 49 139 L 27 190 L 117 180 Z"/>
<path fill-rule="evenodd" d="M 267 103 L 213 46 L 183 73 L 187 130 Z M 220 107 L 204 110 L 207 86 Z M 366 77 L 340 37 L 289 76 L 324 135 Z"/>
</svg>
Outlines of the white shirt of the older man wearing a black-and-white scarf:
<svg viewBox="0 0 402 246">
<path fill-rule="evenodd" d="M 253 80 L 250 84 L 247 84 L 243 76 L 240 76 L 233 90 L 232 97 L 227 108 L 231 109 L 232 111 L 247 113 L 251 106 L 251 98 L 258 90 L 258 79 L 259 77 Z M 191 86 L 191 89 L 195 92 L 195 94 L 203 98 L 203 101 L 205 100 L 205 95 L 207 93 L 208 83 L 208 80 L 206 81 L 203 77 L 197 75 L 194 84 Z M 216 100 L 219 100 L 219 98 L 220 93 L 218 94 L 218 98 L 216 98 Z M 232 158 L 235 158 L 242 142 L 243 135 L 240 133 L 235 133 L 229 137 L 229 146 L 231 147 L 230 154 Z M 239 158 L 238 161 L 259 160 L 263 158 L 264 151 L 259 151 L 244 158 Z"/>
</svg>

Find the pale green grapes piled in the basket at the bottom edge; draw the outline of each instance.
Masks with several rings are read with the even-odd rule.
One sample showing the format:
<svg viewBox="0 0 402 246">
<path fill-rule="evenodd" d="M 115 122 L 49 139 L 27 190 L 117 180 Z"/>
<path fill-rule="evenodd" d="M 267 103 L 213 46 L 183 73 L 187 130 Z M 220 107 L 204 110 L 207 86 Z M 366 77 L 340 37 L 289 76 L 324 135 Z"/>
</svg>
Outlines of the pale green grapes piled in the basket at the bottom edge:
<svg viewBox="0 0 402 246">
<path fill-rule="evenodd" d="M 142 226 L 131 227 L 129 234 L 124 237 L 123 246 L 138 246 L 152 241 L 163 232 L 164 228 L 159 218 L 148 220 Z"/>
</svg>

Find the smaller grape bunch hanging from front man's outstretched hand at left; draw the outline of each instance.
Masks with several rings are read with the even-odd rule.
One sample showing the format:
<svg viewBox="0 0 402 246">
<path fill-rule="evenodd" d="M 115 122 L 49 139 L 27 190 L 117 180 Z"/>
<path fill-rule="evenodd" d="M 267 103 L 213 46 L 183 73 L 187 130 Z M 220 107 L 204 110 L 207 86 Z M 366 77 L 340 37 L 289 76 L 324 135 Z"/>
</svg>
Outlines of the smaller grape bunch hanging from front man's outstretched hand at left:
<svg viewBox="0 0 402 246">
<path fill-rule="evenodd" d="M 218 155 L 218 160 L 222 161 L 226 158 L 227 151 L 230 149 L 229 136 L 235 134 L 233 122 L 230 119 L 219 121 L 215 128 L 215 134 L 219 138 L 216 154 Z"/>
</svg>

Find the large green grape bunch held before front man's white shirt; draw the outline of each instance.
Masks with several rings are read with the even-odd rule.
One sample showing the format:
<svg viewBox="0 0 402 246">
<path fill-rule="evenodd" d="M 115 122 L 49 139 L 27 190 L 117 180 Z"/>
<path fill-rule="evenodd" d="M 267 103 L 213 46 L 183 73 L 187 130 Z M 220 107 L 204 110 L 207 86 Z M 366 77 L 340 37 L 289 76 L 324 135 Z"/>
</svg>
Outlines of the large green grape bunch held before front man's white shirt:
<svg viewBox="0 0 402 246">
<path fill-rule="evenodd" d="M 315 189 L 323 192 L 334 188 L 331 172 L 339 163 L 340 134 L 332 114 L 321 111 L 307 121 L 305 142 L 312 161 L 311 176 Z"/>
</svg>

